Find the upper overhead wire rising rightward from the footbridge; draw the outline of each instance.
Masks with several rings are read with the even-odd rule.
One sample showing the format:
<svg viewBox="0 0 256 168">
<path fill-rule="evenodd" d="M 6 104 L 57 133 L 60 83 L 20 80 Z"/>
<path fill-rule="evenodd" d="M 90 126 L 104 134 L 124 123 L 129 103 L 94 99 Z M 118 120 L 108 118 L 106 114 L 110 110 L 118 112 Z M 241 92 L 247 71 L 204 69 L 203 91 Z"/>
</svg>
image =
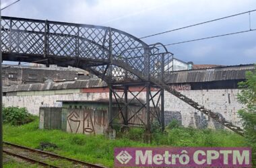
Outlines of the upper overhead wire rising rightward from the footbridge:
<svg viewBox="0 0 256 168">
<path fill-rule="evenodd" d="M 245 12 L 242 12 L 242 13 L 236 13 L 236 14 L 234 14 L 234 15 L 228 15 L 228 16 L 226 16 L 226 17 L 220 17 L 220 18 L 217 18 L 217 19 L 212 19 L 212 20 L 209 20 L 209 21 L 206 21 L 206 22 L 201 22 L 201 23 L 199 23 L 199 24 L 193 24 L 193 25 L 190 25 L 190 26 L 182 27 L 182 28 L 177 28 L 177 29 L 173 29 L 173 30 L 167 30 L 167 31 L 165 31 L 165 32 L 160 32 L 160 33 L 151 34 L 151 35 L 148 35 L 148 36 L 143 36 L 143 37 L 141 37 L 141 38 L 139 38 L 139 39 L 149 38 L 149 37 L 152 37 L 152 36 L 158 36 L 158 35 L 160 35 L 160 34 L 166 34 L 166 33 L 168 33 L 168 32 L 174 32 L 174 31 L 177 31 L 177 30 L 185 29 L 185 28 L 191 28 L 191 27 L 193 27 L 193 26 L 199 26 L 199 25 L 201 25 L 201 24 L 207 24 L 207 23 L 210 23 L 210 22 L 215 22 L 215 21 L 218 21 L 218 20 L 221 20 L 221 19 L 226 19 L 226 18 L 229 18 L 229 17 L 234 17 L 234 16 L 237 16 L 237 15 L 243 15 L 243 14 L 245 14 L 245 13 L 251 13 L 251 12 L 253 12 L 253 11 L 256 11 L 256 9 L 253 9 L 253 10 L 251 10 L 251 11 L 245 11 Z"/>
</svg>

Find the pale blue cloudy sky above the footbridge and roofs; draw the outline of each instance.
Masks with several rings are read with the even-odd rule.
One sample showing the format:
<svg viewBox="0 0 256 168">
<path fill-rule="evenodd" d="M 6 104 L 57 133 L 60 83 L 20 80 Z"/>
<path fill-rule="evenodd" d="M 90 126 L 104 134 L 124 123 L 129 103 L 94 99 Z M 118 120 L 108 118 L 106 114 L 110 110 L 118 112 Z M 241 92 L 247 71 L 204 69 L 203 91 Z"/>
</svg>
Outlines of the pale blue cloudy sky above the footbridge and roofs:
<svg viewBox="0 0 256 168">
<path fill-rule="evenodd" d="M 14 0 L 1 0 L 2 7 Z M 256 9 L 256 0 L 21 0 L 2 15 L 110 26 L 142 37 Z M 251 13 L 256 28 L 256 11 Z M 170 44 L 249 30 L 249 14 L 143 39 Z M 194 64 L 256 62 L 256 31 L 168 46 L 176 58 Z"/>
</svg>

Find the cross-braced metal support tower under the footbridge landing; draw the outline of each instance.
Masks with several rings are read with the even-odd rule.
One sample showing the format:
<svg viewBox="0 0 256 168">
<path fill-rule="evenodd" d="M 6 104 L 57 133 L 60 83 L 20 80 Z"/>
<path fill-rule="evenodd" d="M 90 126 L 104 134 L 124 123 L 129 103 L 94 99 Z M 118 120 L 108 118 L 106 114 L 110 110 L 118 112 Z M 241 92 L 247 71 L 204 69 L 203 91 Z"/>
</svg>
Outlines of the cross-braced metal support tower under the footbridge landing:
<svg viewBox="0 0 256 168">
<path fill-rule="evenodd" d="M 109 87 L 109 108 L 113 101 L 118 104 L 118 112 L 108 116 L 110 125 L 142 127 L 150 132 L 151 123 L 157 122 L 164 130 L 164 90 L 150 83 L 141 83 L 139 91 L 132 91 L 133 86 Z M 146 101 L 139 99 L 141 96 L 146 97 Z"/>
</svg>

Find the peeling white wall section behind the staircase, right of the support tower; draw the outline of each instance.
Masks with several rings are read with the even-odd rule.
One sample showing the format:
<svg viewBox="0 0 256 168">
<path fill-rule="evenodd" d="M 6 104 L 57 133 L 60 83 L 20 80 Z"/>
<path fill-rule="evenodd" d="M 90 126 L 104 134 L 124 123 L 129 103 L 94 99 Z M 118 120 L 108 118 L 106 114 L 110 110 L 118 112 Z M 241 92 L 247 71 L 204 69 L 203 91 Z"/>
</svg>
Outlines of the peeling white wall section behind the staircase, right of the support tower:
<svg viewBox="0 0 256 168">
<path fill-rule="evenodd" d="M 181 93 L 205 106 L 205 108 L 217 112 L 218 115 L 226 118 L 228 121 L 232 121 L 233 124 L 241 126 L 241 120 L 238 118 L 237 111 L 243 108 L 243 106 L 236 99 L 238 89 L 186 90 L 181 91 Z M 174 115 L 175 118 L 181 116 L 184 126 L 223 128 L 218 122 L 202 115 L 201 112 L 177 97 L 170 95 L 170 93 L 165 92 L 164 96 L 164 110 L 170 111 L 169 113 Z"/>
</svg>

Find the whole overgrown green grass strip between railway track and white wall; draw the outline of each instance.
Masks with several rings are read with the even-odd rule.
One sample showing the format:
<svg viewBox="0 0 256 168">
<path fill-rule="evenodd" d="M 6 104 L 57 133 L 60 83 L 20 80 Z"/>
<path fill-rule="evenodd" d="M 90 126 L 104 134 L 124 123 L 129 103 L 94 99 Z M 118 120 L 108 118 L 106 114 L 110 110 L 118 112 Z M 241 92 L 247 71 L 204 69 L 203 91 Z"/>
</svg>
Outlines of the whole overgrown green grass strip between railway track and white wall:
<svg viewBox="0 0 256 168">
<path fill-rule="evenodd" d="M 39 130 L 38 119 L 23 126 L 4 124 L 3 139 L 8 142 L 38 148 L 40 142 L 57 144 L 54 153 L 113 167 L 114 148 L 123 146 L 245 146 L 244 138 L 225 130 L 196 130 L 173 128 L 166 132 L 155 132 L 152 144 L 143 143 L 143 130 L 133 128 L 117 140 L 104 136 L 70 134 L 60 130 Z M 131 140 L 132 139 L 132 140 Z"/>
</svg>

